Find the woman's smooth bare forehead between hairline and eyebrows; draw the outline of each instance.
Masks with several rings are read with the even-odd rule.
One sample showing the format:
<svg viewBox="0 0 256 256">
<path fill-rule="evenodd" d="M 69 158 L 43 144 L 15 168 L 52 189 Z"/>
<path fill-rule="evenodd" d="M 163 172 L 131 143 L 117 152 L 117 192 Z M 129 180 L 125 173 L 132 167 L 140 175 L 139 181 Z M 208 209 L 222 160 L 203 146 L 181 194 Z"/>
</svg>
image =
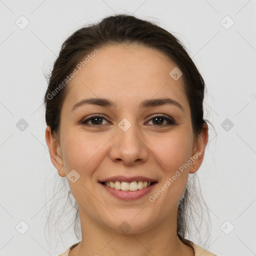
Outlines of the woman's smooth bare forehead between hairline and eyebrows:
<svg viewBox="0 0 256 256">
<path fill-rule="evenodd" d="M 85 57 L 84 57 L 85 58 Z M 88 97 L 110 98 L 116 105 L 137 104 L 144 99 L 170 97 L 188 107 L 182 76 L 162 52 L 142 45 L 105 45 L 79 69 L 67 85 L 65 105 L 72 107 Z"/>
</svg>

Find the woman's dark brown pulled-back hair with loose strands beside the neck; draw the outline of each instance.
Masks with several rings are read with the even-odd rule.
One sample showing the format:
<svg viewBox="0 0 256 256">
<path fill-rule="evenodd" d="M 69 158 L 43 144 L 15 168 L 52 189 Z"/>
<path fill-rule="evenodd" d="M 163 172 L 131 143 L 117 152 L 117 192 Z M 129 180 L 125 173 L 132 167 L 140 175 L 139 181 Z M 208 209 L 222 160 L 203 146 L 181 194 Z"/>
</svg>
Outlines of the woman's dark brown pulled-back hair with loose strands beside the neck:
<svg viewBox="0 0 256 256">
<path fill-rule="evenodd" d="M 52 92 L 56 91 L 63 81 L 66 81 L 64 84 L 68 83 L 66 77 L 73 71 L 77 63 L 87 54 L 93 52 L 95 48 L 98 49 L 106 44 L 121 43 L 135 43 L 157 49 L 167 55 L 182 71 L 182 82 L 189 102 L 193 135 L 196 139 L 202 131 L 203 123 L 206 123 L 203 119 L 203 97 L 204 89 L 206 89 L 203 78 L 185 47 L 175 36 L 150 21 L 128 14 L 107 16 L 98 23 L 81 27 L 63 42 L 44 95 L 45 120 L 46 124 L 50 126 L 52 134 L 59 132 L 60 110 L 66 95 L 66 86 L 61 86 L 62 89 L 53 93 L 54 97 L 52 97 Z M 199 200 L 200 194 L 196 194 L 195 178 L 196 173 L 193 174 L 193 182 L 187 184 L 178 204 L 177 235 L 187 245 L 189 244 L 184 237 L 189 232 L 188 221 L 191 219 L 194 207 L 198 207 L 196 209 L 198 212 L 203 212 L 203 205 Z M 190 186 L 192 189 L 189 192 Z M 189 195 L 196 198 L 196 201 L 192 202 L 194 205 L 191 205 L 192 197 L 190 198 Z M 70 190 L 68 198 L 70 198 Z M 204 202 L 203 199 L 202 202 Z M 76 209 L 75 222 L 77 226 L 79 214 L 76 202 L 73 207 Z M 205 210 L 207 210 L 206 207 Z M 203 217 L 202 214 L 198 214 L 200 218 Z M 74 230 L 76 230 L 75 227 Z"/>
</svg>

